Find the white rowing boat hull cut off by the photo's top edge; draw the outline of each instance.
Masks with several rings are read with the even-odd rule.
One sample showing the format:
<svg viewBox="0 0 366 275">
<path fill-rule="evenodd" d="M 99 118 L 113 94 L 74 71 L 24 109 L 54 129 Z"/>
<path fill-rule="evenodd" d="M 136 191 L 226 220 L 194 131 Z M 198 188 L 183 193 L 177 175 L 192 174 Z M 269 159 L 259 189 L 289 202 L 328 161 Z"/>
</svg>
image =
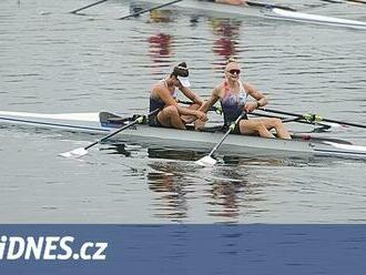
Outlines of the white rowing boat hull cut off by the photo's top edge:
<svg viewBox="0 0 366 275">
<path fill-rule="evenodd" d="M 164 0 L 148 0 L 148 2 L 162 3 L 164 2 Z M 210 14 L 214 12 L 220 14 L 231 14 L 231 17 L 235 16 L 236 18 L 261 17 L 266 19 L 298 21 L 305 23 L 366 30 L 366 22 L 364 21 L 304 13 L 275 4 L 265 4 L 258 2 L 250 2 L 250 3 L 251 4 L 245 4 L 245 6 L 233 6 L 233 4 L 215 3 L 210 1 L 200 1 L 200 0 L 182 0 L 175 2 L 174 6 L 177 6 L 183 9 L 199 10 L 199 11 L 207 12 Z"/>
</svg>

